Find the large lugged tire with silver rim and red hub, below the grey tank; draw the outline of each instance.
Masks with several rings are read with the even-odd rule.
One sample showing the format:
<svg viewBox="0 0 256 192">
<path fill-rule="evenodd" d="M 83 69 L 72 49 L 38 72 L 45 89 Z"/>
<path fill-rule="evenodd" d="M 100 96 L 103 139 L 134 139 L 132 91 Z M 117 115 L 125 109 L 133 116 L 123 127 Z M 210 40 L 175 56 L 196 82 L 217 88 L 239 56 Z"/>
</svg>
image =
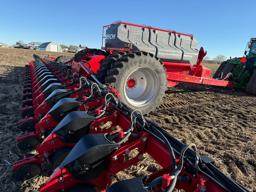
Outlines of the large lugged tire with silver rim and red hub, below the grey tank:
<svg viewBox="0 0 256 192">
<path fill-rule="evenodd" d="M 112 63 L 107 83 L 115 86 L 126 105 L 148 115 L 165 96 L 165 70 L 163 63 L 153 54 L 135 51 Z"/>
</svg>

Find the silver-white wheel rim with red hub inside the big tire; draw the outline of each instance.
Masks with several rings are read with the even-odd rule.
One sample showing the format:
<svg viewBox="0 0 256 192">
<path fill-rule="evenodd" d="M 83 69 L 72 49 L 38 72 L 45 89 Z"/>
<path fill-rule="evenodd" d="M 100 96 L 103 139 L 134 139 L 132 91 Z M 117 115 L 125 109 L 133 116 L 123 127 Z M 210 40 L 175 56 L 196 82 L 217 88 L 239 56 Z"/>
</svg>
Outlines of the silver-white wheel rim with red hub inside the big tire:
<svg viewBox="0 0 256 192">
<path fill-rule="evenodd" d="M 125 99 L 135 107 L 145 106 L 156 97 L 158 87 L 155 71 L 146 67 L 137 68 L 126 78 Z"/>
</svg>

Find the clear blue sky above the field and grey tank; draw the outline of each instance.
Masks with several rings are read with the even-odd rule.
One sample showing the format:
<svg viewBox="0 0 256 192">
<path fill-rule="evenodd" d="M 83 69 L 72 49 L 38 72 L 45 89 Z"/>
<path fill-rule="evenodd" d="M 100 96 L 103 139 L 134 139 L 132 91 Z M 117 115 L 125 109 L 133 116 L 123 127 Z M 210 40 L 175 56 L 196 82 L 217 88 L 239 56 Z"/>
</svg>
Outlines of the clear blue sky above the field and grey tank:
<svg viewBox="0 0 256 192">
<path fill-rule="evenodd" d="M 193 34 L 207 56 L 243 56 L 256 37 L 256 0 L 1 1 L 0 42 L 101 47 L 102 26 L 116 20 Z"/>
</svg>

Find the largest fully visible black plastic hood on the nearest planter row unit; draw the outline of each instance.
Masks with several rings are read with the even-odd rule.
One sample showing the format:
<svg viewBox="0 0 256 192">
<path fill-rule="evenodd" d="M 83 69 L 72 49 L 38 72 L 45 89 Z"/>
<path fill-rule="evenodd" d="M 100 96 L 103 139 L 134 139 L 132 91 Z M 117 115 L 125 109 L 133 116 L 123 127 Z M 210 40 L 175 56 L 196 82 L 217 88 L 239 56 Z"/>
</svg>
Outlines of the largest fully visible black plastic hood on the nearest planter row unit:
<svg viewBox="0 0 256 192">
<path fill-rule="evenodd" d="M 93 180 L 106 169 L 111 154 L 120 147 L 105 134 L 87 134 L 77 142 L 59 167 L 65 167 L 79 181 Z"/>
</svg>

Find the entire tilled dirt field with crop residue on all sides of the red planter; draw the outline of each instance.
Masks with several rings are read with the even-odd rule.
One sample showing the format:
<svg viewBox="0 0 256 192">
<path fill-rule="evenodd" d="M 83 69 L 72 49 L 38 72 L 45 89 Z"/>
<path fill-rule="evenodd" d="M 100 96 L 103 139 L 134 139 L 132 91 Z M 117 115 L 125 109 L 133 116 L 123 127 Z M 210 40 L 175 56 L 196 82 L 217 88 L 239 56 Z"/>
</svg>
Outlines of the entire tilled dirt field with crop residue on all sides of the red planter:
<svg viewBox="0 0 256 192">
<path fill-rule="evenodd" d="M 34 53 L 40 57 L 63 54 L 0 47 L 0 191 L 37 191 L 51 174 L 45 163 L 42 175 L 34 180 L 21 182 L 12 177 L 13 162 L 26 154 L 17 147 L 17 136 L 21 134 L 18 122 L 24 66 L 34 60 Z M 204 66 L 212 69 L 212 73 L 218 68 L 218 65 Z M 256 98 L 240 90 L 206 88 L 185 84 L 169 88 L 163 104 L 147 118 L 181 142 L 195 143 L 201 155 L 213 158 L 222 172 L 255 192 Z M 145 162 L 134 166 L 132 171 L 118 173 L 116 179 L 129 178 L 126 173 L 131 172 L 146 174 L 150 167 Z"/>
</svg>

